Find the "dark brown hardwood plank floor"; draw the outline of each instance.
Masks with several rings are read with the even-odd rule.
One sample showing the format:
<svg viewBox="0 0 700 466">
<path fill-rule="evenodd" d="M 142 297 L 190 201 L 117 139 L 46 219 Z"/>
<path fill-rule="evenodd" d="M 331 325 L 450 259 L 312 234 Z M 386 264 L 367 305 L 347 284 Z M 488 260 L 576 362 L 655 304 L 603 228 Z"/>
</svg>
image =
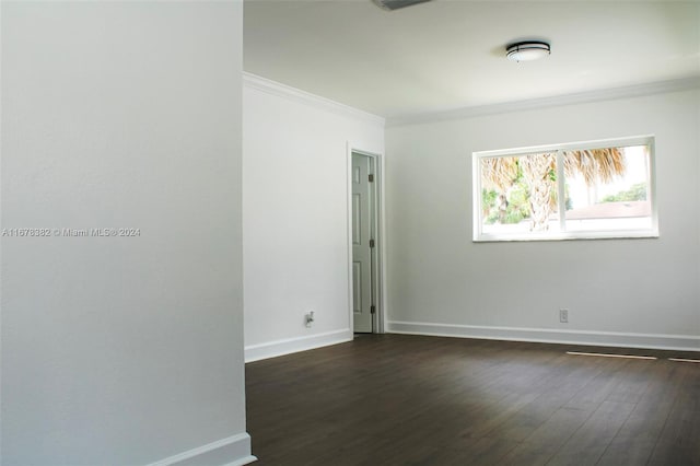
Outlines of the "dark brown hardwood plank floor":
<svg viewBox="0 0 700 466">
<path fill-rule="evenodd" d="M 568 350 L 658 360 L 569 356 Z M 246 364 L 260 465 L 700 465 L 700 363 L 363 335 Z"/>
</svg>

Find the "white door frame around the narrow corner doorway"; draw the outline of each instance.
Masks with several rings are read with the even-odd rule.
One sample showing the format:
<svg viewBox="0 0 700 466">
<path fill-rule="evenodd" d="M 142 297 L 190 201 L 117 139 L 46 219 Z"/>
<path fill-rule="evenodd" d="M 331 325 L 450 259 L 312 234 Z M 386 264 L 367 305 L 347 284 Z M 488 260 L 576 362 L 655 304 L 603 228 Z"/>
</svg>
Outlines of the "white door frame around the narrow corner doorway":
<svg viewBox="0 0 700 466">
<path fill-rule="evenodd" d="M 372 318 L 372 333 L 384 334 L 386 323 L 386 293 L 384 283 L 386 283 L 386 275 L 384 264 L 386 264 L 386 247 L 384 238 L 385 220 L 384 220 L 384 156 L 378 153 L 369 152 L 361 149 L 359 145 L 348 141 L 348 154 L 347 154 L 347 200 L 348 200 L 348 325 L 350 333 L 354 333 L 353 324 L 353 290 L 352 290 L 352 154 L 357 153 L 374 159 L 374 183 L 375 183 L 375 196 L 374 196 L 374 212 L 376 223 L 376 237 L 374 238 L 376 264 L 373 265 L 374 281 L 374 295 L 376 301 L 376 312 Z"/>
</svg>

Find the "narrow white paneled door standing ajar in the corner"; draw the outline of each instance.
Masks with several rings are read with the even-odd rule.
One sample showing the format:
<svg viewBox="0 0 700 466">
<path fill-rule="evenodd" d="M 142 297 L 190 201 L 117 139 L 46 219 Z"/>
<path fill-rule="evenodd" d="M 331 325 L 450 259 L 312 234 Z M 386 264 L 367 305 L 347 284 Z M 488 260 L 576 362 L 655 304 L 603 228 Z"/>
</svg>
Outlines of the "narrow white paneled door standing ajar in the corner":
<svg viewBox="0 0 700 466">
<path fill-rule="evenodd" d="M 372 333 L 374 306 L 374 159 L 352 154 L 352 315 L 354 331 Z"/>
</svg>

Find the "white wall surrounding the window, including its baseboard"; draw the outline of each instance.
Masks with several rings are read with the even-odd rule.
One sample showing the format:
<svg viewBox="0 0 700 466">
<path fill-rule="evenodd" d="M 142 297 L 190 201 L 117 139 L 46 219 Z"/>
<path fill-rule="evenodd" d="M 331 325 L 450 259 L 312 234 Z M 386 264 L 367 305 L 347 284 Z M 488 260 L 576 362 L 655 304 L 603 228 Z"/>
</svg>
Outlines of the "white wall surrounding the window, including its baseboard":
<svg viewBox="0 0 700 466">
<path fill-rule="evenodd" d="M 700 349 L 699 108 L 686 91 L 388 128 L 389 330 Z M 649 133 L 658 240 L 471 242 L 471 152 Z"/>
</svg>

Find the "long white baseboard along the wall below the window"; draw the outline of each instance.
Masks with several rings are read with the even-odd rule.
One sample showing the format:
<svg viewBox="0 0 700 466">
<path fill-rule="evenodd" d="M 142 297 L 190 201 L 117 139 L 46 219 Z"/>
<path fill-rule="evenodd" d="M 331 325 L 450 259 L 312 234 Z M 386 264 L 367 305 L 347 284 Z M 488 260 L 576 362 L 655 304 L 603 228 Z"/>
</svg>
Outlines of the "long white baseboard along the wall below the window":
<svg viewBox="0 0 700 466">
<path fill-rule="evenodd" d="M 477 325 L 432 324 L 425 322 L 388 322 L 386 331 L 389 334 L 430 335 L 436 337 L 478 338 L 488 340 L 700 351 L 700 336 L 692 335 L 487 327 Z"/>
</svg>

